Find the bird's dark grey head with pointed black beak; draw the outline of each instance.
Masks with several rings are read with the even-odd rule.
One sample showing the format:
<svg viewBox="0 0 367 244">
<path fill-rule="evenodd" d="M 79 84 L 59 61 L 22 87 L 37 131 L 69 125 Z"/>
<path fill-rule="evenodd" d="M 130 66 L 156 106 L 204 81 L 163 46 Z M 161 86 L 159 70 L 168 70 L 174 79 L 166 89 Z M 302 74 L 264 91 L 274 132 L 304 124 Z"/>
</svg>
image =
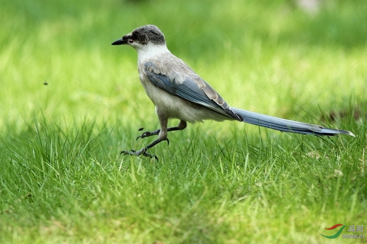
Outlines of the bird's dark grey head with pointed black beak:
<svg viewBox="0 0 367 244">
<path fill-rule="evenodd" d="M 166 45 L 166 40 L 160 29 L 155 25 L 138 27 L 116 40 L 112 45 L 130 45 L 135 49 L 143 49 L 148 44 Z"/>
</svg>

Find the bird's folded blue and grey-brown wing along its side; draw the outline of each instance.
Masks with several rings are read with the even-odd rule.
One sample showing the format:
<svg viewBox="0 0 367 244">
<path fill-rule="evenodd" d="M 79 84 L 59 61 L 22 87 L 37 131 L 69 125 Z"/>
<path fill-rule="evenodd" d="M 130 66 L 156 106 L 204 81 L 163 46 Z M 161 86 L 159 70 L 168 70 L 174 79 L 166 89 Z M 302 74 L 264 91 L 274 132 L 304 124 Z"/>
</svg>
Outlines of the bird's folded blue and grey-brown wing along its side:
<svg viewBox="0 0 367 244">
<path fill-rule="evenodd" d="M 156 65 L 149 61 L 144 64 L 144 71 L 150 82 L 172 95 L 203 105 L 232 119 L 243 120 L 208 83 L 195 73 L 191 75 L 178 72 L 162 74 Z"/>
</svg>

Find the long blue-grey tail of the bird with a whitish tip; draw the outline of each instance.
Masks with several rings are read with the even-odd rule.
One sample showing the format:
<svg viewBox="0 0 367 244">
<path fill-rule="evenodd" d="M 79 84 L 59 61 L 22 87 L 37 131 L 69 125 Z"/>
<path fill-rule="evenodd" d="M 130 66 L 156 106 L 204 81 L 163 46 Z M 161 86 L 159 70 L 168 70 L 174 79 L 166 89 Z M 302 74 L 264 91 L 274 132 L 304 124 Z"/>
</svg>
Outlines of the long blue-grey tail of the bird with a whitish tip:
<svg viewBox="0 0 367 244">
<path fill-rule="evenodd" d="M 238 108 L 230 108 L 233 112 L 237 113 L 243 118 L 243 122 L 270 128 L 276 129 L 278 131 L 285 132 L 294 132 L 299 134 L 311 134 L 311 135 L 319 135 L 319 136 L 336 136 L 337 134 L 347 134 L 351 136 L 355 136 L 350 131 L 344 131 L 341 129 L 329 129 L 321 127 L 320 125 L 315 124 L 306 124 L 302 122 L 280 119 L 277 117 L 262 115 L 261 113 L 254 113 Z"/>
</svg>

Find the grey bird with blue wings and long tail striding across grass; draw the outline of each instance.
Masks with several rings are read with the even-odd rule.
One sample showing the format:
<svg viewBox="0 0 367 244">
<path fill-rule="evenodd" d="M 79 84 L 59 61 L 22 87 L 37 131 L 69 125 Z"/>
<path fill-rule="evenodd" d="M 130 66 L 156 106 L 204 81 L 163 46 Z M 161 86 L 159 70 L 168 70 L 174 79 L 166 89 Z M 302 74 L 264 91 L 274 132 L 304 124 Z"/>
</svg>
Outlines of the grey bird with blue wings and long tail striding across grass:
<svg viewBox="0 0 367 244">
<path fill-rule="evenodd" d="M 137 51 L 139 79 L 155 105 L 160 123 L 160 129 L 146 131 L 138 136 L 145 138 L 158 135 L 155 141 L 138 151 L 122 151 L 121 154 L 143 155 L 158 160 L 147 151 L 162 141 L 169 144 L 168 131 L 182 130 L 186 128 L 187 122 L 196 123 L 203 120 L 237 120 L 282 132 L 317 136 L 355 136 L 346 130 L 324 128 L 229 106 L 189 65 L 168 50 L 162 31 L 155 25 L 138 27 L 114 41 L 112 45 L 128 45 Z M 167 128 L 168 119 L 179 119 L 179 123 L 176 127 Z"/>
</svg>

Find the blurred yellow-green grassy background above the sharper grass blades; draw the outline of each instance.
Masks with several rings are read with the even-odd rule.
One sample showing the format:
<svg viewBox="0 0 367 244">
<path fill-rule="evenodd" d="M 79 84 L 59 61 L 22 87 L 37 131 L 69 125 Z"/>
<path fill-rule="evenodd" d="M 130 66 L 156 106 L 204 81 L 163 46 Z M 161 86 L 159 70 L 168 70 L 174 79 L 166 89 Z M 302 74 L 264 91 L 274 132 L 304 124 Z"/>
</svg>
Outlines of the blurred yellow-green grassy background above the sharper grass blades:
<svg viewBox="0 0 367 244">
<path fill-rule="evenodd" d="M 320 1 L 317 12 L 296 3 L 1 1 L 0 124 L 34 111 L 137 118 L 151 103 L 135 50 L 110 43 L 145 24 L 232 106 L 294 119 L 366 100 L 364 1 Z"/>
</svg>

